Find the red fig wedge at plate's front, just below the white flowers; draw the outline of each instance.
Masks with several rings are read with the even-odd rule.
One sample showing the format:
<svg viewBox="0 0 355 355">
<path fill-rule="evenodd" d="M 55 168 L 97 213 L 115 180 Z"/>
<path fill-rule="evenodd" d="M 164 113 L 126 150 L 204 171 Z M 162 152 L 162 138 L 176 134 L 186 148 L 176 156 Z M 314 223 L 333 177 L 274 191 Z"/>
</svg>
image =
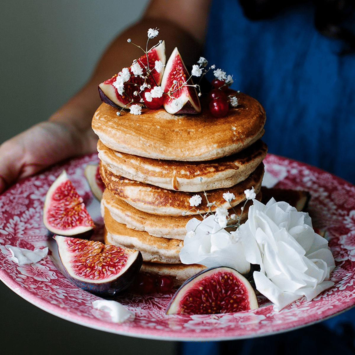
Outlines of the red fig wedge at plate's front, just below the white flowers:
<svg viewBox="0 0 355 355">
<path fill-rule="evenodd" d="M 230 267 L 202 270 L 176 291 L 166 314 L 214 314 L 258 308 L 249 281 Z"/>
</svg>

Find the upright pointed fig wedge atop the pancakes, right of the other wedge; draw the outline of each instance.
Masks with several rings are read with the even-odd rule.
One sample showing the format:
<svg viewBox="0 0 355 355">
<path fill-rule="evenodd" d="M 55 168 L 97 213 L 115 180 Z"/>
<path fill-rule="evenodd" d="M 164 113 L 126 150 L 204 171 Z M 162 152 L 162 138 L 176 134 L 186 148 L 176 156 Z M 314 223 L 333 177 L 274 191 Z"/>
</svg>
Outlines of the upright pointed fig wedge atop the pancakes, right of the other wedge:
<svg viewBox="0 0 355 355">
<path fill-rule="evenodd" d="M 184 62 L 178 48 L 175 47 L 166 63 L 162 79 L 164 91 L 164 108 L 171 114 L 197 114 L 201 112 L 201 104 L 198 99 L 196 88 L 189 78 Z M 187 84 L 187 85 L 183 85 Z M 169 94 L 167 94 L 169 93 Z"/>
</svg>

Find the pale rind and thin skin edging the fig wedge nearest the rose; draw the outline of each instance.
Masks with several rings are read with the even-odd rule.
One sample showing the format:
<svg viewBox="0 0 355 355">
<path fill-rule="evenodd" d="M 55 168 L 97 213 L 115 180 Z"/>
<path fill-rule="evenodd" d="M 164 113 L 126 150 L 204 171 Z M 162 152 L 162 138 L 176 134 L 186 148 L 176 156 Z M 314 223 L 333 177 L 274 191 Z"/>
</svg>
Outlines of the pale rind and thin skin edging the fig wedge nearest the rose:
<svg viewBox="0 0 355 355">
<path fill-rule="evenodd" d="M 237 278 L 242 281 L 242 284 L 244 285 L 244 287 L 246 288 L 246 290 L 248 292 L 248 296 L 249 297 L 245 301 L 249 302 L 249 307 L 250 307 L 249 309 L 258 308 L 258 302 L 257 302 L 257 299 L 256 299 L 255 292 L 254 292 L 252 286 L 250 285 L 250 283 L 248 282 L 248 280 L 243 275 L 241 275 L 239 272 L 237 272 L 235 269 L 232 269 L 232 268 L 226 267 L 226 266 L 218 266 L 218 267 L 212 267 L 212 268 L 204 269 L 204 270 L 200 271 L 199 273 L 197 273 L 196 275 L 193 275 L 192 277 L 187 279 L 180 286 L 178 291 L 176 291 L 176 293 L 174 294 L 173 298 L 169 302 L 168 307 L 166 308 L 165 313 L 167 315 L 171 315 L 171 314 L 186 314 L 186 315 L 190 315 L 191 313 L 178 313 L 177 312 L 177 311 L 180 310 L 180 308 L 179 308 L 180 301 L 182 299 L 184 299 L 184 296 L 189 291 L 189 289 L 186 288 L 185 286 L 188 285 L 189 283 L 191 283 L 191 288 L 197 287 L 198 286 L 198 282 L 193 284 L 193 280 L 197 279 L 202 274 L 209 273 L 212 270 L 216 270 L 216 269 L 227 269 L 230 272 L 232 272 L 234 274 L 237 274 Z M 201 280 L 198 280 L 198 281 L 201 281 Z M 198 312 L 196 312 L 195 314 L 214 314 L 214 313 L 216 313 L 216 312 L 211 312 L 211 313 L 198 313 Z"/>
</svg>

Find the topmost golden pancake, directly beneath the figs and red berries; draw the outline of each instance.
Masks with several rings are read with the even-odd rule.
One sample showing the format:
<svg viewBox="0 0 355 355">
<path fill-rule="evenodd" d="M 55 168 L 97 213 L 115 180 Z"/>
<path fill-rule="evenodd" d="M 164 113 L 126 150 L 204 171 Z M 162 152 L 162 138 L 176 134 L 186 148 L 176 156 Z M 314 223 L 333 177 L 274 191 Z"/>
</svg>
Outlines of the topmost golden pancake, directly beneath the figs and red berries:
<svg viewBox="0 0 355 355">
<path fill-rule="evenodd" d="M 141 115 L 103 103 L 92 120 L 92 128 L 105 146 L 123 153 L 153 159 L 204 161 L 242 151 L 262 137 L 265 111 L 243 93 L 229 90 L 239 99 L 225 117 L 215 118 L 207 105 L 196 115 L 172 115 L 163 108 L 143 108 Z"/>
</svg>

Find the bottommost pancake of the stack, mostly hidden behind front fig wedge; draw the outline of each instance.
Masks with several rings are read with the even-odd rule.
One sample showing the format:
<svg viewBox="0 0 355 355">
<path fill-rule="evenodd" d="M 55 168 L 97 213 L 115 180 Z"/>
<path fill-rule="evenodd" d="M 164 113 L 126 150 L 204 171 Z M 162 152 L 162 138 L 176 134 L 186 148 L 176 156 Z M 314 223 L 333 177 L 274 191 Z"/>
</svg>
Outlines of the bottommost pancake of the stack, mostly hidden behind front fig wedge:
<svg viewBox="0 0 355 355">
<path fill-rule="evenodd" d="M 204 269 L 206 269 L 206 266 L 200 264 L 157 264 L 143 261 L 141 272 L 149 272 L 159 276 L 171 276 L 174 286 L 180 286 L 184 281 Z"/>
</svg>

